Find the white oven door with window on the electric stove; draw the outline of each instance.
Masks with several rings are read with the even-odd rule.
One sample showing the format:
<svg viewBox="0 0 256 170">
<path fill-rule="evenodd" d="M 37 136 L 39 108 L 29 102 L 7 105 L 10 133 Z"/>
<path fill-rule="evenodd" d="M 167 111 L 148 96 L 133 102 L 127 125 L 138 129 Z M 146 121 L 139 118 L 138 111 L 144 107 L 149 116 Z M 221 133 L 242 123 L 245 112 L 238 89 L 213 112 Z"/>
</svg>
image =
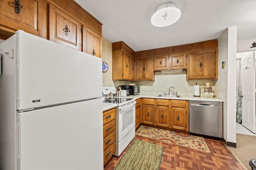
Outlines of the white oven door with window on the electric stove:
<svg viewBox="0 0 256 170">
<path fill-rule="evenodd" d="M 118 107 L 117 141 L 120 142 L 135 127 L 135 104 Z"/>
</svg>

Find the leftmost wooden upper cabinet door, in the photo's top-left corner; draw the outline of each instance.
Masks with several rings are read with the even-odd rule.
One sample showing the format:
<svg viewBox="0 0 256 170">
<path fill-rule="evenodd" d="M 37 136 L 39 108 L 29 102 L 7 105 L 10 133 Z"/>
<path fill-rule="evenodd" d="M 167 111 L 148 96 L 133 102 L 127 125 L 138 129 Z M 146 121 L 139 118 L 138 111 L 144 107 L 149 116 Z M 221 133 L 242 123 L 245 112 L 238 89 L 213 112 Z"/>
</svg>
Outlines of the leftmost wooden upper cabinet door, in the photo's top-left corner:
<svg viewBox="0 0 256 170">
<path fill-rule="evenodd" d="M 14 0 L 1 0 L 0 29 L 14 33 L 18 29 L 38 35 L 38 0 L 20 0 L 15 11 Z M 17 4 L 18 5 L 18 4 Z"/>
</svg>

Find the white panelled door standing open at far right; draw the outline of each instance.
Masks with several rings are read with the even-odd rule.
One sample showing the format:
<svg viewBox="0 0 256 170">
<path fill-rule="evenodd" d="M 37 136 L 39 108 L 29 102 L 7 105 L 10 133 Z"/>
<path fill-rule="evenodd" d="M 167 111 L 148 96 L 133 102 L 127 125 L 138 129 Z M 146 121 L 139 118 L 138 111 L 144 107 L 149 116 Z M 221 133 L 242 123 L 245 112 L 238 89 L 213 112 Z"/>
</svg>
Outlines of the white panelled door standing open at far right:
<svg viewBox="0 0 256 170">
<path fill-rule="evenodd" d="M 255 52 L 242 57 L 242 125 L 256 133 Z"/>
</svg>

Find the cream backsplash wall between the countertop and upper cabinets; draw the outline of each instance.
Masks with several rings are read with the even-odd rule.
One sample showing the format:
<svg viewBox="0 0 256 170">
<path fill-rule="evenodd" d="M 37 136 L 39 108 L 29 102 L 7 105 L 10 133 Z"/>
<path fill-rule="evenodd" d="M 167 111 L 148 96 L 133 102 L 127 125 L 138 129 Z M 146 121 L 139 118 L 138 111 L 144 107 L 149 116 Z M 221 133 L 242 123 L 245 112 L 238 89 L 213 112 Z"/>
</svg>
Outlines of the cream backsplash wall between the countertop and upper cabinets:
<svg viewBox="0 0 256 170">
<path fill-rule="evenodd" d="M 186 80 L 186 70 L 181 73 L 168 73 L 163 74 L 160 71 L 155 72 L 154 81 L 124 81 L 112 80 L 112 43 L 105 38 L 102 38 L 102 61 L 108 63 L 108 71 L 102 73 L 102 86 L 115 86 L 124 85 L 129 83 L 136 83 L 140 85 L 141 92 L 168 92 L 171 86 L 179 95 L 193 96 L 193 85 L 206 86 L 210 83 L 210 87 L 214 90 L 214 85 L 217 80 Z M 203 92 L 201 89 L 200 92 Z M 200 93 L 202 95 L 202 93 Z"/>
</svg>

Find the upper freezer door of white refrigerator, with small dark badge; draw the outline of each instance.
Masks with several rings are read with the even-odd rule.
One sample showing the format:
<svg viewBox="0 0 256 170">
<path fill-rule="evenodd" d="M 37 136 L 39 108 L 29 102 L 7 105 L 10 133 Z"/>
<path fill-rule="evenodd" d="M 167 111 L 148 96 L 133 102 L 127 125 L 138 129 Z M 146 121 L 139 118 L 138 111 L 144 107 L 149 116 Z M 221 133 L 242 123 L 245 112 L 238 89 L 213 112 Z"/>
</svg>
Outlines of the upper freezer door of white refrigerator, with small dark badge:
<svg viewBox="0 0 256 170">
<path fill-rule="evenodd" d="M 17 109 L 102 96 L 102 59 L 24 31 L 14 36 Z"/>
</svg>

